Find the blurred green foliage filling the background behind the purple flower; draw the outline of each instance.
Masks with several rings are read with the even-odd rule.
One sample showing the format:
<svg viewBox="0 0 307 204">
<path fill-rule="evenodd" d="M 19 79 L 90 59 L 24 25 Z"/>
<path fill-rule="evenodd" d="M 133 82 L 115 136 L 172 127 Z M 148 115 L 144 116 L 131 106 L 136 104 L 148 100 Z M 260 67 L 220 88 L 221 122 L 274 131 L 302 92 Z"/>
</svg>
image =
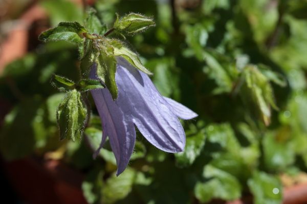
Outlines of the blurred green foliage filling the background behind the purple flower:
<svg viewBox="0 0 307 204">
<path fill-rule="evenodd" d="M 51 26 L 82 23 L 82 8 L 70 2 L 42 6 Z M 205 203 L 249 193 L 255 203 L 281 203 L 278 175 L 307 170 L 307 1 L 97 0 L 94 8 L 103 32 L 116 12 L 155 18 L 155 28 L 128 40 L 160 92 L 199 114 L 184 122 L 185 151 L 167 154 L 139 135 L 128 169 L 116 177 L 108 144 L 92 160 L 102 131 L 95 109 L 80 143 L 59 142 L 63 94 L 49 81 L 53 73 L 78 81 L 79 65 L 78 47 L 56 42 L 12 62 L 0 78 L 0 97 L 14 106 L 1 129 L 2 155 L 14 160 L 64 146 L 62 160 L 86 174 L 89 203 Z"/>
</svg>

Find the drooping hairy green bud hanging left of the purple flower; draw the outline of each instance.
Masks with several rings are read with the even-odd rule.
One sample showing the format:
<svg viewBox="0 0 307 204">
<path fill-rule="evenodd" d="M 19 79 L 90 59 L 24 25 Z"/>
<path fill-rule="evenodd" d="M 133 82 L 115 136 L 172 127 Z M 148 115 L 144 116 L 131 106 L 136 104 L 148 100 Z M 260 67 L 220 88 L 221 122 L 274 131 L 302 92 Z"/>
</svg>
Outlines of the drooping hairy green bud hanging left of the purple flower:
<svg viewBox="0 0 307 204">
<path fill-rule="evenodd" d="M 60 139 L 81 139 L 87 117 L 87 110 L 77 90 L 69 91 L 57 109 Z"/>
</svg>

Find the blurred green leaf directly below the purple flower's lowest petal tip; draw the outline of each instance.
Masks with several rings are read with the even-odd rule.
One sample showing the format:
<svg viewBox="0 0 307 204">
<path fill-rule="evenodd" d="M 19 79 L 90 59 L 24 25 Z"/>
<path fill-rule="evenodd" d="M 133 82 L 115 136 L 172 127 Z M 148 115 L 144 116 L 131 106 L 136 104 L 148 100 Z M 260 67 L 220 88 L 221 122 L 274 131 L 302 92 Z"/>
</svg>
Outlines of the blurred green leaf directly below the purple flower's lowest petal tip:
<svg viewBox="0 0 307 204">
<path fill-rule="evenodd" d="M 136 172 L 131 168 L 127 168 L 119 176 L 112 174 L 102 188 L 102 203 L 115 203 L 125 198 L 132 190 L 135 178 Z"/>
</svg>

